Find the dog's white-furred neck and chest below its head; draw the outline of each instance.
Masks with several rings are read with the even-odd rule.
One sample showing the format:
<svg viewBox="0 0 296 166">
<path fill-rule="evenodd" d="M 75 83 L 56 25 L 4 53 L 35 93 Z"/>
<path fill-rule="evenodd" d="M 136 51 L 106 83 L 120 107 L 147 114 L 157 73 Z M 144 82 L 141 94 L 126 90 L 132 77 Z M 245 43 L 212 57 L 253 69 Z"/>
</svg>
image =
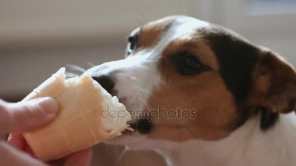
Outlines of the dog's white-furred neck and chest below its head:
<svg viewBox="0 0 296 166">
<path fill-rule="evenodd" d="M 169 166 L 292 166 L 296 163 L 296 116 L 281 115 L 266 132 L 259 117 L 248 120 L 228 137 L 218 141 L 183 143 L 151 141 Z M 149 141 L 150 142 L 150 141 Z"/>
</svg>

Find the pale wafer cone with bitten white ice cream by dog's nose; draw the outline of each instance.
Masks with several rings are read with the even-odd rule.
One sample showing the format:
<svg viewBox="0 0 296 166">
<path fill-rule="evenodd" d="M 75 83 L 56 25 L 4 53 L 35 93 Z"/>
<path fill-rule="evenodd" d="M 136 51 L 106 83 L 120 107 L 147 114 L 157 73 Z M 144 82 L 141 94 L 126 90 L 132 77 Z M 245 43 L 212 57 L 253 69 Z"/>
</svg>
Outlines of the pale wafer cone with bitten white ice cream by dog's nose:
<svg viewBox="0 0 296 166">
<path fill-rule="evenodd" d="M 23 134 L 42 161 L 59 159 L 92 147 L 121 135 L 129 127 L 130 116 L 125 106 L 89 76 L 66 80 L 65 68 L 61 68 L 23 101 L 46 96 L 59 103 L 56 118 L 37 131 Z M 109 110 L 120 111 L 120 118 L 119 114 L 108 115 Z"/>
</svg>

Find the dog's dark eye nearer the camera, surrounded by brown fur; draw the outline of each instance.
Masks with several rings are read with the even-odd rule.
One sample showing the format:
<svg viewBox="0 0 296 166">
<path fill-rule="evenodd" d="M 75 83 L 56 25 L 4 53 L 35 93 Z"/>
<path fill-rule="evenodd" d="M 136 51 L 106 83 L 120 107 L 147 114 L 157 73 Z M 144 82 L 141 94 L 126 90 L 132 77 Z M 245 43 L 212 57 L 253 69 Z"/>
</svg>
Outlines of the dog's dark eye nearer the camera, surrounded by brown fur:
<svg viewBox="0 0 296 166">
<path fill-rule="evenodd" d="M 177 58 L 173 59 L 177 71 L 182 75 L 194 75 L 209 69 L 209 67 L 204 66 L 193 53 L 181 53 L 177 55 Z"/>
</svg>

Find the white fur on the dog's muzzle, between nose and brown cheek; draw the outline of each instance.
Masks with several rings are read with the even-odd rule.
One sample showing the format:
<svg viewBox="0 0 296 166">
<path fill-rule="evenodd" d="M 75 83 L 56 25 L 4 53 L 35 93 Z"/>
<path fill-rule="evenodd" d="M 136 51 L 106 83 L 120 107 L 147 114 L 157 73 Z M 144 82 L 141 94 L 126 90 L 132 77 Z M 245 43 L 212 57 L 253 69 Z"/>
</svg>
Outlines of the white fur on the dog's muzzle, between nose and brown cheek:
<svg viewBox="0 0 296 166">
<path fill-rule="evenodd" d="M 104 63 L 87 71 L 88 74 L 112 74 L 114 90 L 119 100 L 125 100 L 127 109 L 137 110 L 145 105 L 150 92 L 160 82 L 156 62 L 147 56 L 130 56 L 127 59 Z"/>
</svg>

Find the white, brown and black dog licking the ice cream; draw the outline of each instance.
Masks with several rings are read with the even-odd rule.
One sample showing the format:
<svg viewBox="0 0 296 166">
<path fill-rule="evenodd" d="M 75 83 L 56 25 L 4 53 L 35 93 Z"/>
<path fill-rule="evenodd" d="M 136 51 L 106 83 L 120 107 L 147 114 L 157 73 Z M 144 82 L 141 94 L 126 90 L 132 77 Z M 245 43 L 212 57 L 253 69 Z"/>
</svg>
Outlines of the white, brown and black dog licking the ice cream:
<svg viewBox="0 0 296 166">
<path fill-rule="evenodd" d="M 129 122 L 134 132 L 109 143 L 155 150 L 168 166 L 296 164 L 295 69 L 238 33 L 165 17 L 130 33 L 125 59 L 86 73 L 129 111 L 145 112 Z"/>
</svg>

